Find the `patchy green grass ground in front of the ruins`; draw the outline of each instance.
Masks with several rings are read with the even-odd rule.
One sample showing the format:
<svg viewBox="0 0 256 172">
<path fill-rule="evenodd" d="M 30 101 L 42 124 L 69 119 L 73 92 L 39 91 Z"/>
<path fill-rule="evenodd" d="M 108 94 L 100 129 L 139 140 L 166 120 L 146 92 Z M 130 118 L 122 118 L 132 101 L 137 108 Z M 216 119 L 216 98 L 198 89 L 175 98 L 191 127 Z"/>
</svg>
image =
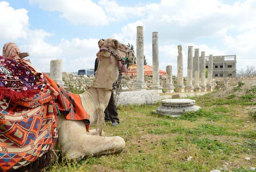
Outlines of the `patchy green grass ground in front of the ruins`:
<svg viewBox="0 0 256 172">
<path fill-rule="evenodd" d="M 252 131 L 256 124 L 247 121 L 256 115 L 246 109 L 256 103 L 246 95 L 212 99 L 213 94 L 190 97 L 202 109 L 178 118 L 154 114 L 160 104 L 119 106 L 120 125 L 106 123 L 104 131 L 107 136 L 123 137 L 122 153 L 80 162 L 64 159 L 46 171 L 208 172 L 227 165 L 230 171 L 249 172 L 256 166 L 256 132 Z"/>
</svg>

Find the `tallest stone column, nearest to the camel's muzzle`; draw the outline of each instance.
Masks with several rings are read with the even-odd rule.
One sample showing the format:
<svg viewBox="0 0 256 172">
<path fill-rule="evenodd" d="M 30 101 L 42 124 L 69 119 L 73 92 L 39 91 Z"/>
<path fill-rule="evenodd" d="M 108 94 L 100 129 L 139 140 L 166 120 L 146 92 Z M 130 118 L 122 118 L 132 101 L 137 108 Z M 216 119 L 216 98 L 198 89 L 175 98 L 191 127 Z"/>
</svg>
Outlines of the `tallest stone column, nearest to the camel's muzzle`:
<svg viewBox="0 0 256 172">
<path fill-rule="evenodd" d="M 146 90 L 147 85 L 144 82 L 144 45 L 143 45 L 143 26 L 137 26 L 137 81 L 136 90 Z"/>
</svg>

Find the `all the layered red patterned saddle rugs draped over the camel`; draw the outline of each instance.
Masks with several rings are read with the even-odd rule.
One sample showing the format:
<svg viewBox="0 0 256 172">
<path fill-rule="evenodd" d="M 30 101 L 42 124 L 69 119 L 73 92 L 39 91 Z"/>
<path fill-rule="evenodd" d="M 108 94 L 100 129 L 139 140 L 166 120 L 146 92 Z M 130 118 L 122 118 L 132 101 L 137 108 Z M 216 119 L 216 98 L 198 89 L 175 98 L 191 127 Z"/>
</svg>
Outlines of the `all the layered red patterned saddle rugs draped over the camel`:
<svg viewBox="0 0 256 172">
<path fill-rule="evenodd" d="M 0 56 L 0 171 L 24 167 L 54 145 L 59 109 L 68 120 L 83 120 L 89 131 L 79 95 L 22 59 Z"/>
</svg>

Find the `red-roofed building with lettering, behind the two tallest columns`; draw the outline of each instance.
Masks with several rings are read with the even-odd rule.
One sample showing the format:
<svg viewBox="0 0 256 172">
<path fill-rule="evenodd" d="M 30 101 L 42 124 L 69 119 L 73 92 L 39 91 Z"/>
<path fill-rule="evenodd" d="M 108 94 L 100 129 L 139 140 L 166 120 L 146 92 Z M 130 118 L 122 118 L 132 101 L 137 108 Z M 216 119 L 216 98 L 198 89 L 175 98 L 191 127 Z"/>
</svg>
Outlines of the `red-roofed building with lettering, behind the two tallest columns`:
<svg viewBox="0 0 256 172">
<path fill-rule="evenodd" d="M 122 73 L 125 75 L 125 73 Z M 163 70 L 159 70 L 160 76 L 166 76 L 166 72 Z M 137 76 L 137 65 L 133 64 L 129 66 L 127 76 Z M 150 65 L 144 65 L 144 76 L 153 76 L 153 67 Z"/>
</svg>

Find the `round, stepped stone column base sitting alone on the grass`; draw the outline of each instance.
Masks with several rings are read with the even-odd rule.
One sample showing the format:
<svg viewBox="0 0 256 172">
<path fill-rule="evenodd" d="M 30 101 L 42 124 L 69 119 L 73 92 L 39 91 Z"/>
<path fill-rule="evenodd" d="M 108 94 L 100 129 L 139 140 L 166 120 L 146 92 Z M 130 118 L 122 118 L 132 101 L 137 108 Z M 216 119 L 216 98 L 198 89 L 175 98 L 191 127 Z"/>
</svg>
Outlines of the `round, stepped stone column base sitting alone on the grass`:
<svg viewBox="0 0 256 172">
<path fill-rule="evenodd" d="M 158 107 L 154 113 L 168 115 L 172 117 L 181 116 L 184 112 L 195 112 L 200 107 L 195 105 L 195 100 L 191 99 L 165 99 L 162 100 L 162 106 Z"/>
</svg>

